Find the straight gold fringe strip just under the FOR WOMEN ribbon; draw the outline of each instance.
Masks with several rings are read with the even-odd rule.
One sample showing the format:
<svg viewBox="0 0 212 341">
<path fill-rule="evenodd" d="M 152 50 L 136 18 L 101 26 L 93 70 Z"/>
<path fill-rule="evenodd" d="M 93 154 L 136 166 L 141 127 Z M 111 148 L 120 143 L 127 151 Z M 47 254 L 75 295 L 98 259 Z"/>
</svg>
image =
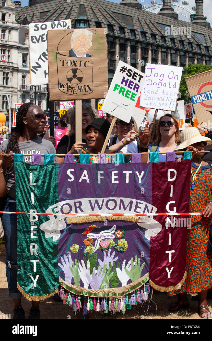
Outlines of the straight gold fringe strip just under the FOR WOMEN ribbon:
<svg viewBox="0 0 212 341">
<path fill-rule="evenodd" d="M 127 220 L 133 221 L 134 223 L 138 222 L 139 217 L 136 216 L 106 216 L 109 221 L 111 220 Z M 80 217 L 67 217 L 68 224 L 82 224 L 82 223 L 91 223 L 93 221 L 104 221 L 105 216 L 80 216 Z"/>
</svg>

